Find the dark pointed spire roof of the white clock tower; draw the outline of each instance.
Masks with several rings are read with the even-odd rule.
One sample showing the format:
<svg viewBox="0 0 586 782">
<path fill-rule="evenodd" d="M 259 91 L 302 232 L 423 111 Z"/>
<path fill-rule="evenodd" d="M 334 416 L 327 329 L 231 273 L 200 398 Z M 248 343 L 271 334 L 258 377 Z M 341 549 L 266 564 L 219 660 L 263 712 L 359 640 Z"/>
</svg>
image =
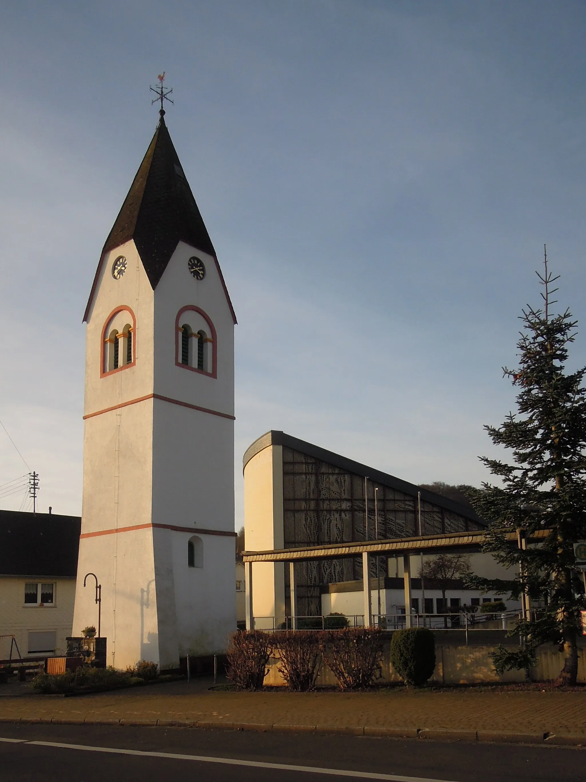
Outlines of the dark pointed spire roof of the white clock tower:
<svg viewBox="0 0 586 782">
<path fill-rule="evenodd" d="M 198 205 L 185 178 L 163 116 L 134 177 L 122 209 L 105 240 L 84 321 L 88 318 L 105 253 L 134 239 L 148 281 L 154 290 L 180 241 L 213 256 L 226 293 L 230 312 L 234 309 L 223 281 L 220 264 Z"/>
</svg>

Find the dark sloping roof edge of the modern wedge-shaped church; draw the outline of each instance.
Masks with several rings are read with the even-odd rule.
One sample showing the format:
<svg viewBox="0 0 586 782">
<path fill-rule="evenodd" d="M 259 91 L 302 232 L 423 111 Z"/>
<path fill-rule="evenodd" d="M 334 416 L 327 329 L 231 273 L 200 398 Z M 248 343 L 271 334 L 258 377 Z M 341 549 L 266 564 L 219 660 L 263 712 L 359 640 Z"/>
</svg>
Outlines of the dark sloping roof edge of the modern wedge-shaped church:
<svg viewBox="0 0 586 782">
<path fill-rule="evenodd" d="M 470 508 L 466 508 L 465 505 L 462 505 L 455 500 L 448 500 L 448 497 L 443 497 L 441 494 L 436 494 L 427 489 L 421 489 L 420 486 L 416 486 L 414 483 L 395 478 L 395 475 L 388 475 L 388 473 L 381 472 L 373 467 L 361 465 L 358 461 L 352 461 L 352 459 L 348 459 L 340 454 L 334 454 L 334 451 L 325 450 L 325 448 L 320 448 L 312 443 L 306 443 L 305 440 L 291 437 L 291 435 L 287 435 L 276 429 L 271 429 L 270 432 L 266 432 L 262 437 L 256 439 L 252 445 L 248 446 L 248 449 L 245 451 L 245 455 L 242 458 L 242 467 L 245 468 L 253 456 L 270 445 L 283 445 L 292 448 L 293 450 L 298 450 L 302 454 L 312 456 L 314 459 L 325 461 L 329 465 L 339 467 L 346 472 L 352 472 L 354 475 L 361 475 L 363 478 L 368 478 L 377 483 L 381 483 L 384 486 L 389 486 L 389 488 L 404 494 L 409 494 L 411 497 L 416 497 L 417 492 L 420 491 L 422 500 L 438 505 L 439 508 L 445 508 L 446 511 L 457 513 L 460 516 L 464 516 L 464 518 L 470 518 L 481 526 L 486 526 L 484 519 L 474 513 L 474 511 L 471 511 Z"/>
</svg>

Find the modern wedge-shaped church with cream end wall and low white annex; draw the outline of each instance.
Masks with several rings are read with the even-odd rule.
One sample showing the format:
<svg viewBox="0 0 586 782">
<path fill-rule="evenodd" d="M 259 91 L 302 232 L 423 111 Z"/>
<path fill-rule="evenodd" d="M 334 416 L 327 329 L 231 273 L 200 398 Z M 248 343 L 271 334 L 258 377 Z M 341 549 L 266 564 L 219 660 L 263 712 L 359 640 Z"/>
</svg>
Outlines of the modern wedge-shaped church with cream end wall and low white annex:
<svg viewBox="0 0 586 782">
<path fill-rule="evenodd" d="M 266 432 L 255 440 L 243 464 L 247 551 L 465 533 L 485 526 L 463 504 L 284 432 Z M 411 559 L 415 575 L 420 555 Z M 490 554 L 473 554 L 472 560 L 478 575 L 507 577 Z M 403 558 L 371 556 L 369 567 L 371 590 L 379 592 L 379 597 L 383 594 L 380 613 L 404 613 Z M 284 561 L 255 561 L 250 605 L 255 627 L 270 627 L 273 619 L 282 622 L 291 616 L 290 573 Z M 362 555 L 295 561 L 294 613 L 363 615 L 363 583 Z M 441 591 L 429 583 L 423 605 L 420 579 L 413 578 L 411 583 L 416 613 L 442 613 L 494 599 L 464 590 L 455 579 L 447 605 L 438 602 Z M 377 605 L 374 599 L 373 605 Z"/>
</svg>

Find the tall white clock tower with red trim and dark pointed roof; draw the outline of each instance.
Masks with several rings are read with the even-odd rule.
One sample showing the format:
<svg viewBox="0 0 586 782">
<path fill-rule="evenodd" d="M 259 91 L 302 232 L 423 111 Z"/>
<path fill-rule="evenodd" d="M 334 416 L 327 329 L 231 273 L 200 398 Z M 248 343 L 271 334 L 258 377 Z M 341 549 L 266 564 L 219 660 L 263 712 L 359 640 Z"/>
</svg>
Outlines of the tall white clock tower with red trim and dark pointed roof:
<svg viewBox="0 0 586 782">
<path fill-rule="evenodd" d="M 161 113 L 84 320 L 84 497 L 73 634 L 108 664 L 225 651 L 234 583 L 234 310 Z"/>
</svg>

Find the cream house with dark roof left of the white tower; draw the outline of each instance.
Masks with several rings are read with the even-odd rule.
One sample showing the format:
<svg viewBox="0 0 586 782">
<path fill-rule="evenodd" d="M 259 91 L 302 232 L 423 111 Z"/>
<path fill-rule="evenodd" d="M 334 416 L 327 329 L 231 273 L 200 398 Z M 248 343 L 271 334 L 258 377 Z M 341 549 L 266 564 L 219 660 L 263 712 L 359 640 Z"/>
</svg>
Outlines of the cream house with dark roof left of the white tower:
<svg viewBox="0 0 586 782">
<path fill-rule="evenodd" d="M 0 511 L 0 659 L 60 655 L 71 635 L 81 519 Z M 94 596 L 94 590 L 86 590 Z M 88 624 L 97 623 L 97 608 Z"/>
</svg>

